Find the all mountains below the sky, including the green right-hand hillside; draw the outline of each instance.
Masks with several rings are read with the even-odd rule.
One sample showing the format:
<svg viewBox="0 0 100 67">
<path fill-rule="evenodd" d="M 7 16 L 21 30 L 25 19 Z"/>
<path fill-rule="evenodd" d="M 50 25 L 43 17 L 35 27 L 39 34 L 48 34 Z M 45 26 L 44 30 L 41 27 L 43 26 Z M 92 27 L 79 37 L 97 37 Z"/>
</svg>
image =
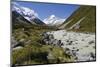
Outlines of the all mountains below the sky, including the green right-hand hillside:
<svg viewBox="0 0 100 67">
<path fill-rule="evenodd" d="M 95 32 L 96 7 L 82 5 L 67 19 L 51 15 L 41 21 L 38 17 L 38 13 L 34 10 L 12 3 L 12 21 L 13 24 L 36 24 L 56 26 L 59 29 Z"/>
</svg>

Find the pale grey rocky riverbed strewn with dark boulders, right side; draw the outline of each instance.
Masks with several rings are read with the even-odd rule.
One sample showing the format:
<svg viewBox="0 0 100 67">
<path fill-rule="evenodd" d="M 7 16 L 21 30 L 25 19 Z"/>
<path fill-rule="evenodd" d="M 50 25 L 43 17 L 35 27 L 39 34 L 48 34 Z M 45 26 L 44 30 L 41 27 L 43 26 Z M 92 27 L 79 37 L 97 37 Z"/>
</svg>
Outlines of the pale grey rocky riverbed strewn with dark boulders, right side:
<svg viewBox="0 0 100 67">
<path fill-rule="evenodd" d="M 65 30 L 46 32 L 42 34 L 43 44 L 62 47 L 66 54 L 75 57 L 74 61 L 94 61 L 95 34 L 67 32 Z"/>
</svg>

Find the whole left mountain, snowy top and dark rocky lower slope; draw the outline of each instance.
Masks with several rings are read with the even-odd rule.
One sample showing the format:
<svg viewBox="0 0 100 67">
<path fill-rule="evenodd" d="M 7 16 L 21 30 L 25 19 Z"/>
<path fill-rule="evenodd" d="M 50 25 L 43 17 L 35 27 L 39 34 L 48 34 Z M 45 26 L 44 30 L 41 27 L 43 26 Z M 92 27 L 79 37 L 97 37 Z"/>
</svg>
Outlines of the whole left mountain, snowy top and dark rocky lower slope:
<svg viewBox="0 0 100 67">
<path fill-rule="evenodd" d="M 38 14 L 34 10 L 19 6 L 15 3 L 12 3 L 11 9 L 13 23 L 45 25 L 45 23 L 38 18 Z"/>
</svg>

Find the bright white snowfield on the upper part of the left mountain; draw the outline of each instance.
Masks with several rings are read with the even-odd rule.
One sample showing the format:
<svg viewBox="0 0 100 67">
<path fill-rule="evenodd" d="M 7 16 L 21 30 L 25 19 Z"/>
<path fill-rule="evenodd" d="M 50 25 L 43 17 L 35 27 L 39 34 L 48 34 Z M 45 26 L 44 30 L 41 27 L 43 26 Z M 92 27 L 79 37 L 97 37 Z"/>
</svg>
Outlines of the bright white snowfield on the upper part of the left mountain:
<svg viewBox="0 0 100 67">
<path fill-rule="evenodd" d="M 12 11 L 16 11 L 19 14 L 23 15 L 25 19 L 31 21 L 31 19 L 35 19 L 38 17 L 38 14 L 27 7 L 20 6 L 19 4 L 12 2 Z"/>
</svg>

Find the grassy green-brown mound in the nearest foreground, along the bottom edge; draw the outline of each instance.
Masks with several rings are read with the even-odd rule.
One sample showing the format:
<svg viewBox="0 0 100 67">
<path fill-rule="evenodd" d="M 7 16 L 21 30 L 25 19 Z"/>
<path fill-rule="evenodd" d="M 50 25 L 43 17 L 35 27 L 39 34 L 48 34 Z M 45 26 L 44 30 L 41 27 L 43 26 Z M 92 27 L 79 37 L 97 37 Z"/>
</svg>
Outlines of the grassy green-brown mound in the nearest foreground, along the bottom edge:
<svg viewBox="0 0 100 67">
<path fill-rule="evenodd" d="M 50 53 L 54 59 L 47 59 L 49 49 L 53 49 Z M 72 58 L 64 54 L 63 49 L 52 46 L 34 46 L 28 45 L 22 49 L 13 51 L 13 64 L 46 64 L 46 63 L 62 63 L 71 62 Z M 58 61 L 59 60 L 59 61 Z M 52 61 L 52 62 L 51 62 Z"/>
</svg>

